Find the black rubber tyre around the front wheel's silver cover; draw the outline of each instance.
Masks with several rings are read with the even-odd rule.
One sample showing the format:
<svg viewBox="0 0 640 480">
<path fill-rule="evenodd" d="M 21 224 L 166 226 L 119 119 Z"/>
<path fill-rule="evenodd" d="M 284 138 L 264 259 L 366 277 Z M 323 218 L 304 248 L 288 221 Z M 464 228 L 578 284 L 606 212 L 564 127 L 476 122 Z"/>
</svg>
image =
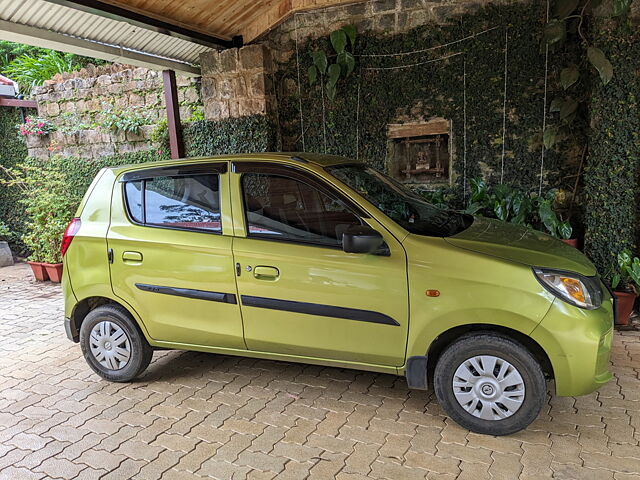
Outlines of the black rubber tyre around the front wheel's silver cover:
<svg viewBox="0 0 640 480">
<path fill-rule="evenodd" d="M 456 399 L 453 386 L 454 374 L 463 363 L 478 355 L 490 355 L 510 363 L 523 380 L 524 400 L 522 400 L 520 407 L 511 413 L 511 416 L 485 420 L 467 411 Z M 493 371 L 496 372 L 497 368 L 499 368 L 498 364 Z M 481 388 L 480 385 L 483 385 L 483 383 L 476 382 L 473 388 L 476 388 L 476 384 L 478 389 Z M 534 356 L 520 343 L 505 336 L 488 332 L 470 333 L 451 344 L 438 359 L 433 386 L 440 405 L 449 417 L 472 432 L 486 435 L 509 435 L 526 428 L 537 418 L 547 395 L 544 374 Z M 491 387 L 488 388 L 488 391 L 492 392 Z M 479 415 L 482 401 L 479 402 L 480 406 L 476 406 L 477 403 L 476 400 L 469 402 L 467 408 L 473 409 L 473 405 L 475 412 Z M 495 409 L 500 409 L 499 413 L 505 415 L 506 407 L 505 410 L 500 408 L 504 407 L 504 403 L 487 403 L 485 406 L 489 408 L 489 405 L 494 406 L 491 409 L 492 416 L 496 416 Z M 496 405 L 498 406 L 496 407 Z"/>
</svg>

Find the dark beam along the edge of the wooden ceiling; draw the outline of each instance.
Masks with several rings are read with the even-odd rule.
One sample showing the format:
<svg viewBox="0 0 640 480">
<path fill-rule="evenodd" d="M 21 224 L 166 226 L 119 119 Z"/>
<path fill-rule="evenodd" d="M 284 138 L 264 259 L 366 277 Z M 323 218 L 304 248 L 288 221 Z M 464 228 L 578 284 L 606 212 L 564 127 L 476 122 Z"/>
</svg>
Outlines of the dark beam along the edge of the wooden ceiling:
<svg viewBox="0 0 640 480">
<path fill-rule="evenodd" d="M 122 8 L 108 2 L 100 0 L 46 0 L 64 7 L 75 8 L 83 12 L 99 15 L 113 20 L 124 21 L 141 28 L 164 33 L 172 37 L 182 38 L 190 42 L 199 43 L 208 47 L 231 48 L 241 47 L 242 38 L 233 39 L 222 38 L 215 35 L 199 32 L 187 25 L 170 23 L 160 17 L 155 17 L 147 12 L 136 11 L 134 9 Z"/>
</svg>

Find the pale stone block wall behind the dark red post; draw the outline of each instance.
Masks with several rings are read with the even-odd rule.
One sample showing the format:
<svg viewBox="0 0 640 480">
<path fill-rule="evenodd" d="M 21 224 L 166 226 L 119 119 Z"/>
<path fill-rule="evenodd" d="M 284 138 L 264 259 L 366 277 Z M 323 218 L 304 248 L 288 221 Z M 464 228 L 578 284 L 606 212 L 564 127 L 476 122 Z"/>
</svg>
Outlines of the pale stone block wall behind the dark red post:
<svg viewBox="0 0 640 480">
<path fill-rule="evenodd" d="M 202 109 L 200 80 L 177 77 L 182 121 Z M 162 73 L 126 65 L 83 68 L 72 74 L 56 75 L 34 89 L 38 115 L 57 131 L 27 136 L 29 156 L 51 155 L 100 158 L 154 148 L 151 134 L 166 118 Z M 143 123 L 139 131 L 105 127 L 111 120 Z M 142 119 L 142 120 L 136 120 Z"/>
</svg>

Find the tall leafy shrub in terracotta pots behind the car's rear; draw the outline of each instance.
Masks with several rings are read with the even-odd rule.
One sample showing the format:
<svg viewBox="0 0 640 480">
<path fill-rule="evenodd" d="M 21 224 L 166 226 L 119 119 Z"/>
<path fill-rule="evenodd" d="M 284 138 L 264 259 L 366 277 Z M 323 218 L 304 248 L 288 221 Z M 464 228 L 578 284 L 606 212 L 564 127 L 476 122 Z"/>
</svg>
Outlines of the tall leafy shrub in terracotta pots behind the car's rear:
<svg viewBox="0 0 640 480">
<path fill-rule="evenodd" d="M 77 205 L 76 199 L 68 193 L 65 176 L 48 163 L 2 169 L 9 177 L 4 183 L 21 190 L 19 201 L 25 207 L 27 217 L 27 233 L 22 241 L 31 251 L 27 263 L 36 280 L 60 282 L 60 240 Z"/>
</svg>

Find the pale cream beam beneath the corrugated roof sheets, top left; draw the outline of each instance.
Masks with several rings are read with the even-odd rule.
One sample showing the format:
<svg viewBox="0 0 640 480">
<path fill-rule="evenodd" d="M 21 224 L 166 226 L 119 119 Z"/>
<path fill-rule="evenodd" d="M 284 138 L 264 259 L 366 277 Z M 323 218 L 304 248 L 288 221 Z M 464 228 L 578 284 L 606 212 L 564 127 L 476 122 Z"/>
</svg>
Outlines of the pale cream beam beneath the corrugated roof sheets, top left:
<svg viewBox="0 0 640 480">
<path fill-rule="evenodd" d="M 6 20 L 0 20 L 0 40 L 60 50 L 84 55 L 85 57 L 101 58 L 113 63 L 125 63 L 155 70 L 170 69 L 191 76 L 200 75 L 200 68 L 188 63 L 71 37 L 62 33 Z"/>
</svg>

